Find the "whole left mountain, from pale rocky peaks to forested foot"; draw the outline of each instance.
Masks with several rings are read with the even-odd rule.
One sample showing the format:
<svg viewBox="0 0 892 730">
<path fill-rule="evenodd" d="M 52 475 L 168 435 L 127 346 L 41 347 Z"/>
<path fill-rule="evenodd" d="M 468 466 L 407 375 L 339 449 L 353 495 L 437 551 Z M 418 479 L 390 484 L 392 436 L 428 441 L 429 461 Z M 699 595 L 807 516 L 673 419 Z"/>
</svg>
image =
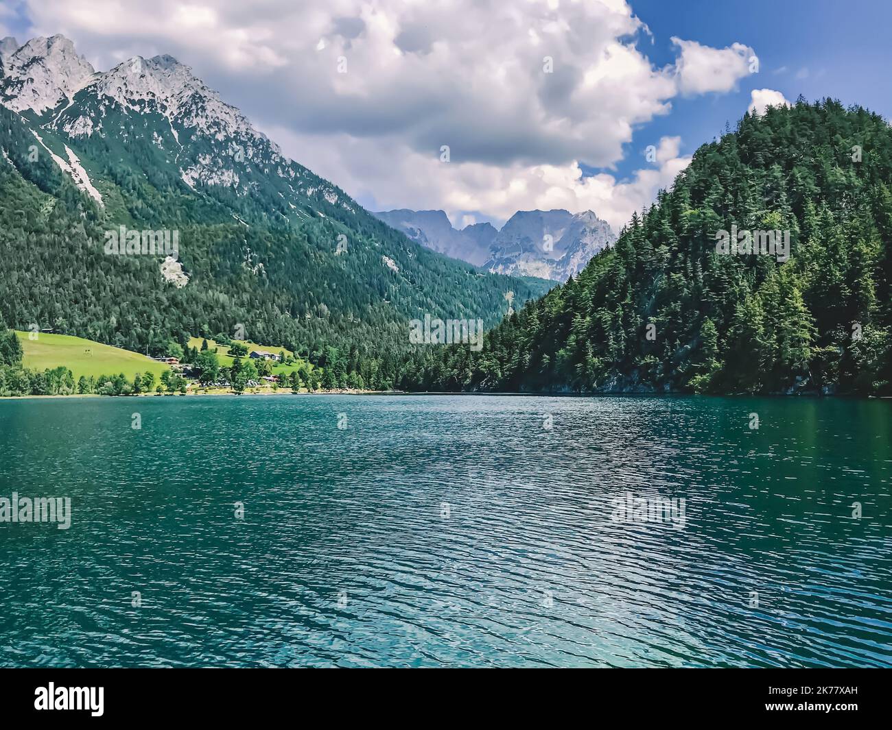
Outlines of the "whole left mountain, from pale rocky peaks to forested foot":
<svg viewBox="0 0 892 730">
<path fill-rule="evenodd" d="M 409 241 L 169 55 L 95 72 L 62 36 L 0 49 L 0 316 L 14 327 L 156 354 L 241 326 L 377 366 L 408 347 L 410 319 L 491 326 L 506 291 L 515 306 L 547 291 Z M 178 250 L 109 255 L 120 226 Z"/>
</svg>

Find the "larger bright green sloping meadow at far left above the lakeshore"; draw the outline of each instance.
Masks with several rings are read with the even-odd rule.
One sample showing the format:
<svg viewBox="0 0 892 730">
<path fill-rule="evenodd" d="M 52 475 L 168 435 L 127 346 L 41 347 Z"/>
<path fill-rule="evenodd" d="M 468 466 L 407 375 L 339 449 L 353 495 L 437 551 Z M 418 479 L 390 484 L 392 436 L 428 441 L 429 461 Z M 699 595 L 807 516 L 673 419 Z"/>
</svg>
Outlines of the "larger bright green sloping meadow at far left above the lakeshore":
<svg viewBox="0 0 892 730">
<path fill-rule="evenodd" d="M 117 375 L 124 373 L 132 380 L 136 373 L 154 373 L 155 378 L 169 370 L 168 365 L 155 362 L 138 352 L 112 348 L 93 340 L 82 340 L 67 334 L 37 333 L 37 340 L 29 340 L 30 332 L 16 332 L 21 349 L 24 350 L 22 364 L 30 370 L 45 370 L 65 365 L 75 380 L 81 375 Z"/>
</svg>

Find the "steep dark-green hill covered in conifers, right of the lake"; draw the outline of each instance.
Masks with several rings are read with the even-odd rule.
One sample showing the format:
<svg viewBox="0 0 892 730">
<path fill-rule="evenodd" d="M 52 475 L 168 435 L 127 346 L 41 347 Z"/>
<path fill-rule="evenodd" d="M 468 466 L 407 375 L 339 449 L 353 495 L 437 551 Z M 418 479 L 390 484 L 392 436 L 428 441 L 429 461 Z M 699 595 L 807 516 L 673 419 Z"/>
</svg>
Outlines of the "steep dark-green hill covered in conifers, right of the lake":
<svg viewBox="0 0 892 730">
<path fill-rule="evenodd" d="M 402 384 L 892 395 L 892 128 L 831 100 L 745 115 L 578 277 Z"/>
</svg>

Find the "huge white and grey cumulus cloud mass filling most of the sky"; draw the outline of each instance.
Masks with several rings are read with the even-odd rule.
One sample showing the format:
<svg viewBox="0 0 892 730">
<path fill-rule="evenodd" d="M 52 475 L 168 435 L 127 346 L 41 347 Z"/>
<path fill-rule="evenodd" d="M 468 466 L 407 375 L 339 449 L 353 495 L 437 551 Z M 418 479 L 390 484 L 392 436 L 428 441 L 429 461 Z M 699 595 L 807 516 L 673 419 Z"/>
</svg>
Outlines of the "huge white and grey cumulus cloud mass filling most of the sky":
<svg viewBox="0 0 892 730">
<path fill-rule="evenodd" d="M 614 168 L 673 98 L 730 91 L 754 55 L 673 38 L 677 62 L 657 67 L 624 0 L 27 3 L 35 32 L 71 37 L 97 68 L 176 56 L 360 201 L 493 218 L 640 209 L 677 150 L 627 181 L 582 167 Z"/>
</svg>

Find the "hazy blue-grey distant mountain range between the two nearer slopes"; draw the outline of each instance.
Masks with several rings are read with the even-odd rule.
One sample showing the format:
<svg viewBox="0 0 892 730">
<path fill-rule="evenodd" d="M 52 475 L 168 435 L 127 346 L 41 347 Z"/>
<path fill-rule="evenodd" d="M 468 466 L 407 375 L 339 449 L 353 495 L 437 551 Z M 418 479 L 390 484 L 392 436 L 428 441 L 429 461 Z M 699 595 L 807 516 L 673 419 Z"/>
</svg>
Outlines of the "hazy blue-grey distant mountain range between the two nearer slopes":
<svg viewBox="0 0 892 730">
<path fill-rule="evenodd" d="M 489 223 L 457 229 L 442 210 L 375 213 L 413 241 L 492 274 L 536 276 L 566 282 L 600 250 L 615 242 L 607 221 L 591 210 L 518 210 L 501 230 Z"/>
</svg>

